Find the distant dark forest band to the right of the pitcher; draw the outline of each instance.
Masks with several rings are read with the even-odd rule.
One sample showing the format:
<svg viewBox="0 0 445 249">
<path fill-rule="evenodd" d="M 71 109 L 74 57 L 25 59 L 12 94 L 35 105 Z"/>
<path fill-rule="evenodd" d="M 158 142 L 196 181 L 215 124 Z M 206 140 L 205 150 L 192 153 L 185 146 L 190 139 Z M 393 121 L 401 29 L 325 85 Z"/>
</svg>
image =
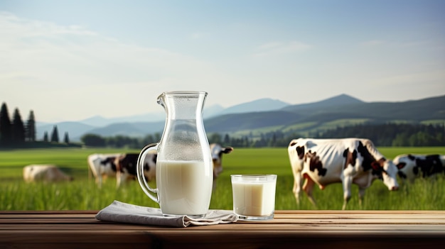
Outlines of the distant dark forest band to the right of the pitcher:
<svg viewBox="0 0 445 249">
<path fill-rule="evenodd" d="M 377 146 L 445 146 L 445 125 L 424 125 L 410 123 L 365 123 L 316 131 L 306 134 L 282 131 L 261 133 L 242 138 L 230 138 L 229 135 L 212 134 L 209 143 L 222 143 L 233 147 L 262 148 L 287 147 L 295 138 L 368 138 Z"/>
</svg>

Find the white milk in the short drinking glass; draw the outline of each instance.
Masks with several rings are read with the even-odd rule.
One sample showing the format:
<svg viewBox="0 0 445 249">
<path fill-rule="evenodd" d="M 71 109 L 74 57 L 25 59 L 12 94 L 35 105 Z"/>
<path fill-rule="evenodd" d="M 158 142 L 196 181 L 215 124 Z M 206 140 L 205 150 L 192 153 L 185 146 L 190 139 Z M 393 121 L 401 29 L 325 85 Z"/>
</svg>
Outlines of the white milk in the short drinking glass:
<svg viewBox="0 0 445 249">
<path fill-rule="evenodd" d="M 275 209 L 275 182 L 232 182 L 233 211 L 246 216 L 269 216 Z"/>
</svg>

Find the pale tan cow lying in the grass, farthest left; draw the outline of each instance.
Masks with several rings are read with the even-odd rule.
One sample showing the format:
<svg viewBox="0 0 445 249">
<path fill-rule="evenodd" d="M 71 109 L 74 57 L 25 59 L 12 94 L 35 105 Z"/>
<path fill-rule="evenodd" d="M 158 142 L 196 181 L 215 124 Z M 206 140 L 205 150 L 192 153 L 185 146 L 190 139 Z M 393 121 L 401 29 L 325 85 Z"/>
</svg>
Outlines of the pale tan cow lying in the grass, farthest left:
<svg viewBox="0 0 445 249">
<path fill-rule="evenodd" d="M 55 165 L 28 165 L 23 167 L 25 182 L 63 182 L 73 181 L 73 177 L 63 173 Z"/>
</svg>

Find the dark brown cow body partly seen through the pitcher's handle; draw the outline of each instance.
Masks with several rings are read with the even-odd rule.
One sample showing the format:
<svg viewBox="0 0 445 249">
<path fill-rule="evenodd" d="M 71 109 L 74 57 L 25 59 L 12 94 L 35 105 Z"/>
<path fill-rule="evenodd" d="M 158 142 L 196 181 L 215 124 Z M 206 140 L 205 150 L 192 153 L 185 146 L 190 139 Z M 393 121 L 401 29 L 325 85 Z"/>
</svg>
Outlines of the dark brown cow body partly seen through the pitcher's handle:
<svg viewBox="0 0 445 249">
<path fill-rule="evenodd" d="M 139 154 L 122 154 L 116 157 L 116 187 L 127 182 L 128 179 L 136 179 L 136 165 Z M 148 181 L 156 177 L 156 153 L 148 153 L 144 161 L 144 176 Z"/>
</svg>

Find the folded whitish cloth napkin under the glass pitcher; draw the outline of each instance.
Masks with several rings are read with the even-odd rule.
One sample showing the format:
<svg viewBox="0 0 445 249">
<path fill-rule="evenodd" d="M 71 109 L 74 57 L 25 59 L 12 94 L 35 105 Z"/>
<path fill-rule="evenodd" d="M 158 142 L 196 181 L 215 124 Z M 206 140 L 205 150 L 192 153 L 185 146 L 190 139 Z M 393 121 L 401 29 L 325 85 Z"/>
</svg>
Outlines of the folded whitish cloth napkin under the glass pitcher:
<svg viewBox="0 0 445 249">
<path fill-rule="evenodd" d="M 100 221 L 114 221 L 122 223 L 136 223 L 154 226 L 202 226 L 231 223 L 238 220 L 233 211 L 211 209 L 204 218 L 191 218 L 189 216 L 163 216 L 161 209 L 147 206 L 136 206 L 121 201 L 113 201 L 96 214 Z"/>
</svg>

